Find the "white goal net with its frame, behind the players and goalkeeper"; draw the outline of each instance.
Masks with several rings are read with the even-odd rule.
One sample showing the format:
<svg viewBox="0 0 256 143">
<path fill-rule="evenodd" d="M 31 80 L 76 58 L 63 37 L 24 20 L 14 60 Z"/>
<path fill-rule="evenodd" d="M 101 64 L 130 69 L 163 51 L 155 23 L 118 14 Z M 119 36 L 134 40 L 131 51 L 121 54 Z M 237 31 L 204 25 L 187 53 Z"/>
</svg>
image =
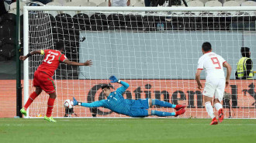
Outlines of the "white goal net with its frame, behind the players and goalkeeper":
<svg viewBox="0 0 256 143">
<path fill-rule="evenodd" d="M 106 99 L 102 84 L 112 90 L 121 86 L 109 82 L 112 75 L 130 84 L 123 94 L 126 99 L 186 104 L 181 117 L 208 117 L 195 71 L 202 43 L 209 42 L 213 52 L 233 68 L 223 99 L 225 117 L 256 118 L 254 80 L 235 78 L 240 47 L 251 48 L 251 59 L 256 57 L 255 11 L 254 7 L 25 7 L 24 55 L 33 49 L 53 49 L 61 41 L 69 60 L 93 62 L 92 66 L 61 63 L 58 67 L 53 77 L 57 90 L 54 117 L 64 117 L 64 100 L 72 97 L 88 103 Z M 24 61 L 24 102 L 35 90 L 33 73 L 42 60 L 43 56 L 34 55 Z M 205 75 L 203 70 L 203 84 Z M 29 117 L 44 116 L 47 100 L 43 91 L 29 107 Z M 72 117 L 126 117 L 104 107 L 76 106 L 73 111 Z"/>
</svg>

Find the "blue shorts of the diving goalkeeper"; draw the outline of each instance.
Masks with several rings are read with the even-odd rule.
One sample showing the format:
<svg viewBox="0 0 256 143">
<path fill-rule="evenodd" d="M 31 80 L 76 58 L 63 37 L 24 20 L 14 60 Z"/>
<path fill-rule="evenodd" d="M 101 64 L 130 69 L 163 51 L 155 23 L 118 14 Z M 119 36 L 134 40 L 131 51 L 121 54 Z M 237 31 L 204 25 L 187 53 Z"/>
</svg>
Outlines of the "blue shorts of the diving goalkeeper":
<svg viewBox="0 0 256 143">
<path fill-rule="evenodd" d="M 130 108 L 130 117 L 147 117 L 149 108 L 148 99 L 134 100 Z"/>
</svg>

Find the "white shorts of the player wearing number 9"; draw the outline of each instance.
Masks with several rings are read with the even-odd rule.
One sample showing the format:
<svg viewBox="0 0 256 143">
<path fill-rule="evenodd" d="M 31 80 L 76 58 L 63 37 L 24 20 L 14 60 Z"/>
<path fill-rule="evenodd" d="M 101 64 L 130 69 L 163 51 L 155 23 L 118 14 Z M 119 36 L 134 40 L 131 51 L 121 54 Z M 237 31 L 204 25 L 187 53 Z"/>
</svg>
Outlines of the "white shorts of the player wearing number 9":
<svg viewBox="0 0 256 143">
<path fill-rule="evenodd" d="M 225 79 L 210 79 L 206 81 L 202 95 L 207 97 L 213 97 L 223 100 L 223 94 L 225 91 L 226 80 Z"/>
</svg>

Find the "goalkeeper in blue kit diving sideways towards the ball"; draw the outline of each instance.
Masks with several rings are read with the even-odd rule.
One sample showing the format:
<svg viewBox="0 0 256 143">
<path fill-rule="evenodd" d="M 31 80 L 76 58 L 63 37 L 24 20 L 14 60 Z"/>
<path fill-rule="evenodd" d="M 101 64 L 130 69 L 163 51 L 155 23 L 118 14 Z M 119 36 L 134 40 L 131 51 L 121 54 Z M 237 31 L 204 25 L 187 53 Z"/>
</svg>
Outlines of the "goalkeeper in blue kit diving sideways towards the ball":
<svg viewBox="0 0 256 143">
<path fill-rule="evenodd" d="M 75 100 L 74 97 L 74 106 L 80 105 L 83 107 L 106 107 L 111 111 L 114 111 L 118 114 L 125 114 L 130 117 L 147 117 L 150 115 L 156 115 L 159 117 L 166 116 L 178 116 L 185 113 L 185 105 L 175 105 L 168 102 L 164 102 L 157 99 L 139 99 L 139 100 L 129 100 L 124 99 L 122 94 L 129 87 L 128 83 L 125 83 L 121 80 L 118 80 L 115 76 L 109 77 L 111 83 L 120 83 L 123 86 L 119 87 L 116 91 L 111 92 L 108 85 L 102 86 L 102 92 L 104 96 L 107 97 L 106 100 L 99 100 L 92 103 L 81 103 L 78 100 Z M 152 105 L 158 105 L 161 107 L 171 107 L 175 108 L 176 112 L 163 112 L 163 111 L 154 111 L 149 108 Z"/>
</svg>

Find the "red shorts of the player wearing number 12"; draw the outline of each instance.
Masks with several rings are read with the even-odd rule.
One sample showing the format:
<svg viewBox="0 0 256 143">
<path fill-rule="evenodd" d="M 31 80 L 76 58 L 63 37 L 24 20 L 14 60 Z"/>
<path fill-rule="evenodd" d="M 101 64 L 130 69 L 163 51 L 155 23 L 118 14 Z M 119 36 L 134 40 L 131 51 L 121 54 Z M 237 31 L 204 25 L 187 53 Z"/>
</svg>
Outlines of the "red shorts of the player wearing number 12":
<svg viewBox="0 0 256 143">
<path fill-rule="evenodd" d="M 47 94 L 55 92 L 53 78 L 47 75 L 46 73 L 37 70 L 34 73 L 33 86 L 42 88 L 42 90 L 44 90 Z"/>
</svg>

